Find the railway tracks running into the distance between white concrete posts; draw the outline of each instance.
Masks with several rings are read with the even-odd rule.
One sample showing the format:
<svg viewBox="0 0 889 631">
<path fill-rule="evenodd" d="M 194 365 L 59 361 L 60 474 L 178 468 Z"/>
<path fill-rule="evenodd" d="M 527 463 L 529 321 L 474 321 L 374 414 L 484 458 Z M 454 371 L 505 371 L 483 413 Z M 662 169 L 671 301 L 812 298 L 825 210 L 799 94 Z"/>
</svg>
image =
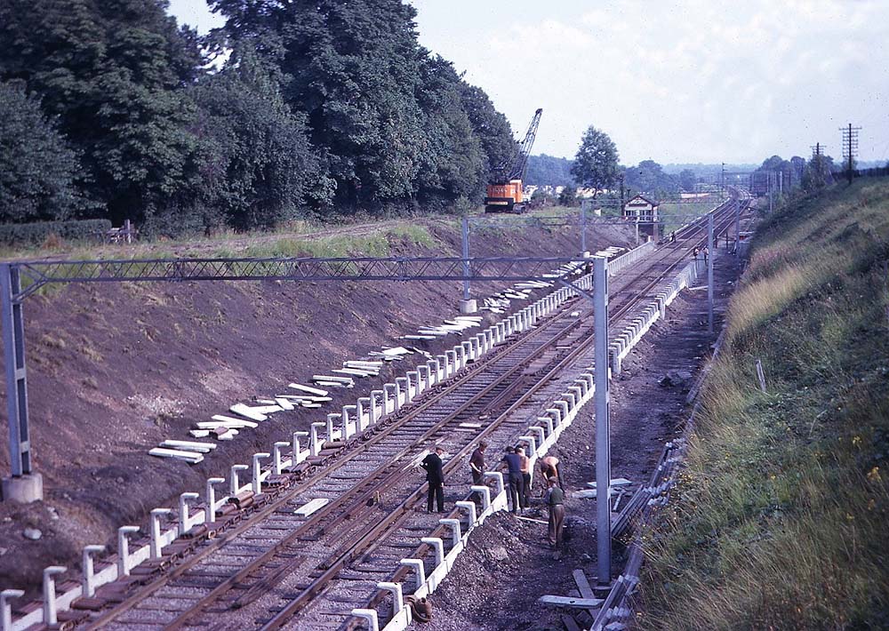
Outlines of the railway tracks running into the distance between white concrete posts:
<svg viewBox="0 0 889 631">
<path fill-rule="evenodd" d="M 717 230 L 725 229 L 733 206 L 715 216 Z M 685 228 L 676 247 L 656 251 L 639 275 L 615 279 L 611 322 L 629 316 L 706 232 L 701 222 Z M 363 434 L 326 443 L 308 467 L 269 478 L 262 496 L 244 494 L 236 500 L 244 513 L 238 523 L 183 552 L 172 569 L 133 589 L 114 609 L 93 614 L 86 627 L 351 625 L 351 609 L 383 602 L 380 580 L 404 578 L 406 570 L 393 575 L 392 568 L 415 548 L 417 533 L 441 528 L 441 515 L 420 506 L 426 487 L 412 463 L 430 445 L 443 444 L 445 475 L 453 475 L 479 438 L 493 445 L 514 441 L 525 426 L 516 412 L 535 413 L 547 387 L 558 387 L 559 375 L 589 350 L 592 337 L 586 301 L 569 302 Z M 313 499 L 328 503 L 308 518 L 295 514 Z"/>
</svg>

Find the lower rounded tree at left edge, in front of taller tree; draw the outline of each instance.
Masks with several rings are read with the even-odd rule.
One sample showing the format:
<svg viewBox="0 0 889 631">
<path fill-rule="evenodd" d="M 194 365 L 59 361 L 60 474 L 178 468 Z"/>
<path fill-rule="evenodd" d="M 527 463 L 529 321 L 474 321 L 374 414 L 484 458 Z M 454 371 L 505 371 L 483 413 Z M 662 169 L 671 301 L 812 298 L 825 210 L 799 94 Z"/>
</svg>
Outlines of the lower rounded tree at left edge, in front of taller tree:
<svg viewBox="0 0 889 631">
<path fill-rule="evenodd" d="M 0 83 L 0 221 L 64 220 L 92 208 L 68 147 L 33 96 Z"/>
</svg>

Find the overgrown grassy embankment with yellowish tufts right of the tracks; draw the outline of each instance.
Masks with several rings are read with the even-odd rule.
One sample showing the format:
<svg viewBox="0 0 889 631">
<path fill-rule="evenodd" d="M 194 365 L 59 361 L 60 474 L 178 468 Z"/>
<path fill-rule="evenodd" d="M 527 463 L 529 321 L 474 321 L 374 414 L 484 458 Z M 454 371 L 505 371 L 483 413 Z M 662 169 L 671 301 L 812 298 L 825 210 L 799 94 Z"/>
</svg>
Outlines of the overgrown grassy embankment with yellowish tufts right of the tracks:
<svg viewBox="0 0 889 631">
<path fill-rule="evenodd" d="M 889 181 L 789 204 L 753 248 L 640 625 L 889 628 Z"/>
</svg>

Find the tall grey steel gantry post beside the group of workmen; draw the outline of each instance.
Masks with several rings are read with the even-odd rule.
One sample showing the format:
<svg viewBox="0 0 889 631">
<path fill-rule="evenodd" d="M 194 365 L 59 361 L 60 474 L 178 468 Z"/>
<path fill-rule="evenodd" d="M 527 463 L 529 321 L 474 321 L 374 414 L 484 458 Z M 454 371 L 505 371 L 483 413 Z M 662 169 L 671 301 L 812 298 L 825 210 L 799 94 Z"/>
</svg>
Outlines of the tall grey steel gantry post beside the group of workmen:
<svg viewBox="0 0 889 631">
<path fill-rule="evenodd" d="M 611 583 L 611 427 L 608 418 L 608 262 L 593 259 L 593 317 L 596 333 L 596 532 L 600 586 Z"/>
</svg>

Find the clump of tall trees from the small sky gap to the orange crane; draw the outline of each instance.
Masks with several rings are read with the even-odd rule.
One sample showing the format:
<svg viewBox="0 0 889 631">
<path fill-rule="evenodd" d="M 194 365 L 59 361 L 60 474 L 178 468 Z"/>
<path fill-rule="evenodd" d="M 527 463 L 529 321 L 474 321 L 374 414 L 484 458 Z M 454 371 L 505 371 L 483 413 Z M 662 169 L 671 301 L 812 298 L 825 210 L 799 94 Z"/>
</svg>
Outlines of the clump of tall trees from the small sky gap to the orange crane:
<svg viewBox="0 0 889 631">
<path fill-rule="evenodd" d="M 236 42 L 276 68 L 342 209 L 478 200 L 509 125 L 417 43 L 400 0 L 217 0 Z"/>
</svg>

